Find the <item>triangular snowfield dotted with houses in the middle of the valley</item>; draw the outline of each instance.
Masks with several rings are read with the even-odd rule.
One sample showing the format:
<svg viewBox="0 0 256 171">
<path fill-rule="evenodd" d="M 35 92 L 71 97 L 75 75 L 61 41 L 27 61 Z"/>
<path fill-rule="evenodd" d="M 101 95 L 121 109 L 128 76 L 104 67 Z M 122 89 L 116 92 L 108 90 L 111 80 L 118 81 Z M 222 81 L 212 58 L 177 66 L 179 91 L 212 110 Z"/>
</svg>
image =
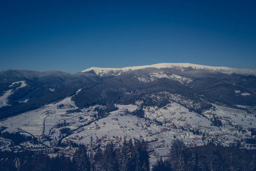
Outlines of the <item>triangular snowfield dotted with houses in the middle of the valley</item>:
<svg viewBox="0 0 256 171">
<path fill-rule="evenodd" d="M 75 136 L 82 136 L 84 139 L 77 140 L 76 143 L 78 144 L 89 144 L 88 137 L 93 135 L 93 137 L 103 137 L 107 136 L 108 139 L 112 138 L 113 136 L 127 136 L 127 139 L 134 137 L 136 139 L 140 139 L 141 135 L 145 135 L 148 131 L 142 130 L 141 127 L 136 127 L 135 123 L 143 123 L 143 119 L 139 119 L 136 116 L 132 115 L 125 115 L 122 116 L 120 113 L 123 113 L 123 109 L 128 109 L 129 111 L 134 111 L 137 109 L 136 105 L 117 105 L 119 109 L 117 111 L 111 112 L 111 114 L 99 121 L 95 121 L 90 125 L 87 125 L 84 128 L 84 131 L 79 133 L 73 133 L 69 136 L 69 138 Z M 117 120 L 113 120 L 117 118 Z M 105 123 L 105 124 L 103 124 Z M 96 129 L 97 125 L 99 125 L 100 129 Z M 150 131 L 157 132 L 159 128 L 157 127 L 150 127 Z"/>
</svg>

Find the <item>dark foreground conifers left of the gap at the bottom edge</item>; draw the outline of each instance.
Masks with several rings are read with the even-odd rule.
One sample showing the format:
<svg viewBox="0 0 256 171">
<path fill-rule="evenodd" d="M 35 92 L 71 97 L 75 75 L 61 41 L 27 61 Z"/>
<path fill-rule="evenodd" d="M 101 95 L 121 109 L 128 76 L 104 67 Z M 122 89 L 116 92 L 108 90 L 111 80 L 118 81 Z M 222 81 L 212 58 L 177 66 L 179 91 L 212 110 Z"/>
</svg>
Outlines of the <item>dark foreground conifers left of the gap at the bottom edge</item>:
<svg viewBox="0 0 256 171">
<path fill-rule="evenodd" d="M 49 157 L 44 153 L 0 152 L 0 170 L 108 170 L 108 171 L 149 171 L 147 144 L 144 141 L 124 140 L 121 148 L 108 144 L 104 150 L 94 149 L 92 165 L 90 149 L 79 145 L 72 158 L 58 155 Z"/>
</svg>

